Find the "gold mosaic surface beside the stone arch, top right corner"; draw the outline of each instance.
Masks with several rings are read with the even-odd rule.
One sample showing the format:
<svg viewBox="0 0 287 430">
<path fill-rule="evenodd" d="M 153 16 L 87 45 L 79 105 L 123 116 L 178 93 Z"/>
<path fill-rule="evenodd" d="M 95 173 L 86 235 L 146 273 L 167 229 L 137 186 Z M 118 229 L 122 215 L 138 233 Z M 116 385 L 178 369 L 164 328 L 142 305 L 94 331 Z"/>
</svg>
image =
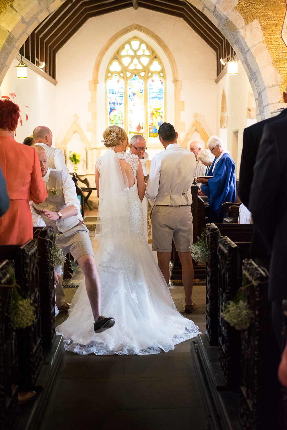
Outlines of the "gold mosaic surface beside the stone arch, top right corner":
<svg viewBox="0 0 287 430">
<path fill-rule="evenodd" d="M 281 38 L 286 13 L 285 0 L 238 0 L 236 8 L 248 25 L 258 19 L 264 40 L 273 60 L 274 67 L 282 77 L 281 91 L 287 85 L 287 47 Z M 283 99 L 281 100 L 283 102 Z"/>
</svg>

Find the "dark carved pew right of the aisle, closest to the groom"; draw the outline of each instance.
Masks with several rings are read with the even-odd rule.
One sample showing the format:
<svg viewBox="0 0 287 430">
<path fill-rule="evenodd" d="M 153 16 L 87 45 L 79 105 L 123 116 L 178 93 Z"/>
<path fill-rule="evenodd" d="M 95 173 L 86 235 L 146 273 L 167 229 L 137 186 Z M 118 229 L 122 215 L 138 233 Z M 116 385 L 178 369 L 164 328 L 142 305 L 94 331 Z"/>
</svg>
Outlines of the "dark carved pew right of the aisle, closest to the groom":
<svg viewBox="0 0 287 430">
<path fill-rule="evenodd" d="M 234 242 L 250 242 L 253 224 L 207 224 L 206 337 L 210 346 L 218 344 L 218 241 L 227 236 Z"/>
</svg>

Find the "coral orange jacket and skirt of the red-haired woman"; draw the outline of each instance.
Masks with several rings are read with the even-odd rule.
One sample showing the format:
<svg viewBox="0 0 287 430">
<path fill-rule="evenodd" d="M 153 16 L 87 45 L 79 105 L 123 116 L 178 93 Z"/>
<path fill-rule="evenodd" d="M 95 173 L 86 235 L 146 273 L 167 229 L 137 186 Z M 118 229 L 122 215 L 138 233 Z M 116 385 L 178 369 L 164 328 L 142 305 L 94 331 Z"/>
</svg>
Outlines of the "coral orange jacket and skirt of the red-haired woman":
<svg viewBox="0 0 287 430">
<path fill-rule="evenodd" d="M 0 245 L 23 245 L 33 237 L 29 200 L 38 205 L 47 197 L 37 151 L 0 136 L 0 167 L 10 198 L 9 209 L 0 218 Z"/>
</svg>

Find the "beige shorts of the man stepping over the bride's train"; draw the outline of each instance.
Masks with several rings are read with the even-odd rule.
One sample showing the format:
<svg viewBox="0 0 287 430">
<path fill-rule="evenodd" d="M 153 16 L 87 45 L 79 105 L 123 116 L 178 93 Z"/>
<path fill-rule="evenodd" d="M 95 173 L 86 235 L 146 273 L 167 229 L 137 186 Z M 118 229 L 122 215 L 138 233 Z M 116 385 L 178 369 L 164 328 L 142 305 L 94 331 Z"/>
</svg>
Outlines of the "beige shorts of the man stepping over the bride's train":
<svg viewBox="0 0 287 430">
<path fill-rule="evenodd" d="M 70 252 L 75 262 L 83 255 L 94 255 L 89 230 L 84 224 L 76 225 L 65 233 L 57 234 L 56 245 L 58 248 L 62 248 L 64 255 Z"/>
</svg>

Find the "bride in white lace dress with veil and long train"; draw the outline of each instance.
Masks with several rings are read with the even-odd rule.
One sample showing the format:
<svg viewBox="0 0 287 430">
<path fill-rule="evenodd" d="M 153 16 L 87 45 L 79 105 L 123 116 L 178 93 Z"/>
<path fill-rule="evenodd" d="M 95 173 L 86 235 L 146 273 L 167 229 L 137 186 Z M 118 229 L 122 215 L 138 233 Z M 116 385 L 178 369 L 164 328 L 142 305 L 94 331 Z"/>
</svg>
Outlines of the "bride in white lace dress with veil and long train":
<svg viewBox="0 0 287 430">
<path fill-rule="evenodd" d="M 109 149 L 96 162 L 100 232 L 95 254 L 102 283 L 102 314 L 115 325 L 93 330 L 84 282 L 57 332 L 65 349 L 78 354 L 157 354 L 198 335 L 198 327 L 177 312 L 168 286 L 144 236 L 141 199 L 144 178 L 139 157 L 126 153 L 127 134 L 118 126 L 103 133 Z"/>
</svg>

